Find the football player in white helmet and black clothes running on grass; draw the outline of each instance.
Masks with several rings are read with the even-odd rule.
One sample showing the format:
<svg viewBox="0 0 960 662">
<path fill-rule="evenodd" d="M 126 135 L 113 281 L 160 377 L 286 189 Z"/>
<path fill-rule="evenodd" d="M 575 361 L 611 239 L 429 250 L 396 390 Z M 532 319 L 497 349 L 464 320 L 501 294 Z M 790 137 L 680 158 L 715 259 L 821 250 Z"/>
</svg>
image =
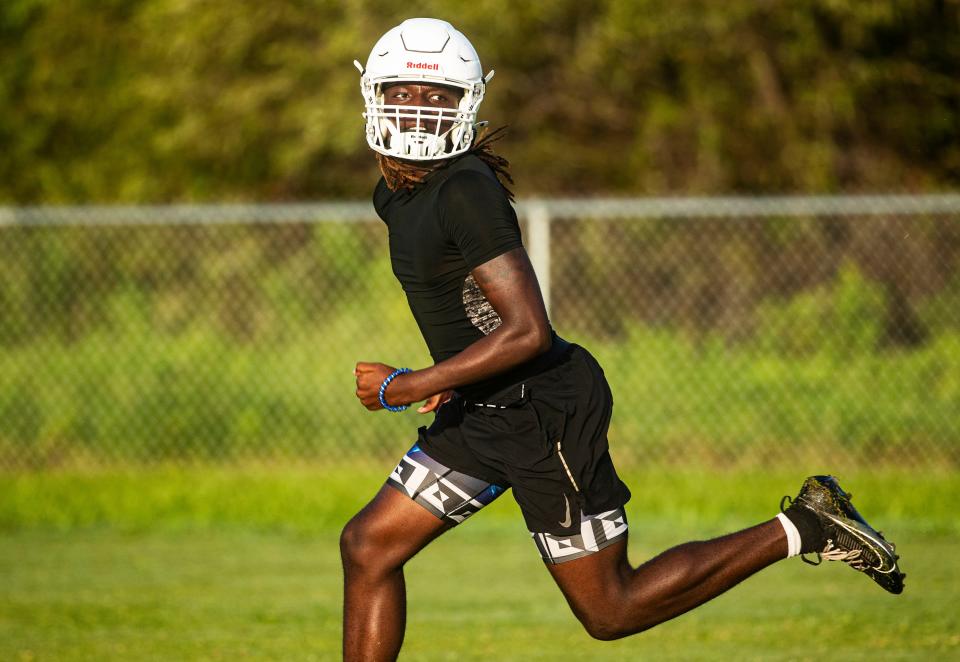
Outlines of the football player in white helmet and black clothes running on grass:
<svg viewBox="0 0 960 662">
<path fill-rule="evenodd" d="M 434 419 L 343 530 L 345 659 L 397 656 L 404 564 L 508 489 L 598 639 L 646 630 L 801 553 L 903 589 L 893 545 L 829 476 L 808 478 L 772 519 L 632 567 L 630 491 L 607 447 L 610 389 L 593 356 L 551 328 L 510 204 L 508 164 L 492 147 L 498 134 L 478 136 L 493 72 L 483 74 L 463 34 L 427 18 L 387 32 L 357 66 L 383 175 L 374 205 L 434 364 L 357 363 L 356 395 L 371 411 L 423 402 L 418 411 Z"/>
</svg>

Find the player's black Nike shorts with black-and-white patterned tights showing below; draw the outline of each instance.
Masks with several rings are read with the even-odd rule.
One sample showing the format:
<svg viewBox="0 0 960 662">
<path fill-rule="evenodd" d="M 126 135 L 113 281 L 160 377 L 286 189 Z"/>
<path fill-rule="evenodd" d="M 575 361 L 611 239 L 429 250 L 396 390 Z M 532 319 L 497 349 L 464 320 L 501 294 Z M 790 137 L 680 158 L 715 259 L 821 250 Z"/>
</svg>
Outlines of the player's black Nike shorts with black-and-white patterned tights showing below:
<svg viewBox="0 0 960 662">
<path fill-rule="evenodd" d="M 513 488 L 547 560 L 573 556 L 583 538 L 589 553 L 625 534 L 630 491 L 607 446 L 610 387 L 587 350 L 555 343 L 546 370 L 482 401 L 457 395 L 443 405 L 388 484 L 454 522 Z"/>
</svg>

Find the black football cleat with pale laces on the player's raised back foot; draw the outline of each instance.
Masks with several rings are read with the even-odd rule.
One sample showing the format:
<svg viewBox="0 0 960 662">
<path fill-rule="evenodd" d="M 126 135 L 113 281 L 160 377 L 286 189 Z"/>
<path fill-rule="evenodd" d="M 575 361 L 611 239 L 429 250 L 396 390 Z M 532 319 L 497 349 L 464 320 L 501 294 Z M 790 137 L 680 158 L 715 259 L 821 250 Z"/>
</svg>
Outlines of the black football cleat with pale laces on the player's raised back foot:
<svg viewBox="0 0 960 662">
<path fill-rule="evenodd" d="M 803 557 L 806 563 L 819 565 L 823 559 L 843 561 L 854 570 L 866 574 L 890 593 L 903 592 L 906 577 L 897 566 L 896 546 L 867 524 L 850 503 L 852 495 L 844 492 L 833 476 L 811 476 L 804 481 L 796 499 L 784 497 L 785 504 L 803 506 L 817 516 L 826 540 L 817 560 Z"/>
</svg>

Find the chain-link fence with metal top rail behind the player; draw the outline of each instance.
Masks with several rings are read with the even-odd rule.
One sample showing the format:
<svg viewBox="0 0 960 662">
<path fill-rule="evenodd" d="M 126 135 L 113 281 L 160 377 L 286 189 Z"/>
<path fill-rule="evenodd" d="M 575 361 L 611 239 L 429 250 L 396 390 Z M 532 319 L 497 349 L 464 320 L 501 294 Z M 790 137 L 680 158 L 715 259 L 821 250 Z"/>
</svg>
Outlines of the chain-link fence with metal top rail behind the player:
<svg viewBox="0 0 960 662">
<path fill-rule="evenodd" d="M 960 195 L 529 200 L 625 467 L 960 466 Z M 0 208 L 0 467 L 389 463 L 429 356 L 366 203 Z"/>
</svg>

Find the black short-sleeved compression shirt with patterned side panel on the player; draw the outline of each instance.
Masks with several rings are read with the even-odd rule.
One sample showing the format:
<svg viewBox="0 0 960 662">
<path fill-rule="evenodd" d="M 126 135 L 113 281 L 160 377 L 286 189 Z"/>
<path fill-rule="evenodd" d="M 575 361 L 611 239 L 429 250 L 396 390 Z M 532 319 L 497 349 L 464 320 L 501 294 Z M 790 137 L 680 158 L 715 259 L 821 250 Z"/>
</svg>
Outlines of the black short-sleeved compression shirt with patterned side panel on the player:
<svg viewBox="0 0 960 662">
<path fill-rule="evenodd" d="M 413 191 L 383 178 L 373 205 L 390 234 L 390 262 L 435 362 L 500 325 L 470 271 L 523 246 L 517 215 L 493 171 L 461 157 Z"/>
</svg>

